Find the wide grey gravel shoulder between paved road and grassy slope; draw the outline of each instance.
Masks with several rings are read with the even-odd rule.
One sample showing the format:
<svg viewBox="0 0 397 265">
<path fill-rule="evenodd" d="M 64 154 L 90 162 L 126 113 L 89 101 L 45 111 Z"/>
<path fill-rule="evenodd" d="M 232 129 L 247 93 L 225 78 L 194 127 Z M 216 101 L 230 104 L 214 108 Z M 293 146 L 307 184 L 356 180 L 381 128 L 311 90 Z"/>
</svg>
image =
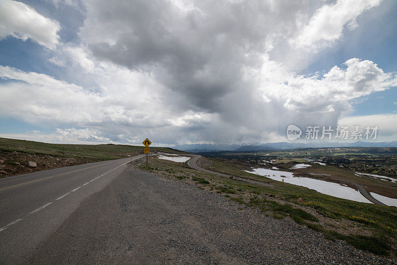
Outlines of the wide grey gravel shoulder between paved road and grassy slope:
<svg viewBox="0 0 397 265">
<path fill-rule="evenodd" d="M 32 264 L 393 264 L 288 218 L 130 166 L 85 199 Z M 396 262 L 396 261 L 394 261 Z"/>
</svg>

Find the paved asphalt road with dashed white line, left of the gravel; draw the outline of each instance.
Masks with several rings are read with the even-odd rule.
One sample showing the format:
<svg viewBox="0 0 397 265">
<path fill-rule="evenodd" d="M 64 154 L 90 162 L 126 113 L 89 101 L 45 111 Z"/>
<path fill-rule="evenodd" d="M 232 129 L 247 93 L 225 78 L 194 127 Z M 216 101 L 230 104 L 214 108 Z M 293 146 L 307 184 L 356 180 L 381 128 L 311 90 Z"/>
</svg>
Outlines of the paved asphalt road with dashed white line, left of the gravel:
<svg viewBox="0 0 397 265">
<path fill-rule="evenodd" d="M 0 264 L 23 263 L 82 200 L 143 156 L 0 179 Z"/>
</svg>

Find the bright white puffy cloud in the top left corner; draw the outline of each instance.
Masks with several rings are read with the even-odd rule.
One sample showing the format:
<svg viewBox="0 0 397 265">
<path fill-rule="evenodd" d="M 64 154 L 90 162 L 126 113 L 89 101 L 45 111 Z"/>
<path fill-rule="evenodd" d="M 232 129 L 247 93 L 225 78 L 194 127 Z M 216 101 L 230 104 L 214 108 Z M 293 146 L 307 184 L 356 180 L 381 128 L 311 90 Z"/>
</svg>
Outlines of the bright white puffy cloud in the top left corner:
<svg viewBox="0 0 397 265">
<path fill-rule="evenodd" d="M 12 36 L 22 40 L 32 39 L 49 49 L 59 43 L 58 21 L 45 17 L 29 5 L 12 0 L 0 1 L 0 39 Z"/>
</svg>

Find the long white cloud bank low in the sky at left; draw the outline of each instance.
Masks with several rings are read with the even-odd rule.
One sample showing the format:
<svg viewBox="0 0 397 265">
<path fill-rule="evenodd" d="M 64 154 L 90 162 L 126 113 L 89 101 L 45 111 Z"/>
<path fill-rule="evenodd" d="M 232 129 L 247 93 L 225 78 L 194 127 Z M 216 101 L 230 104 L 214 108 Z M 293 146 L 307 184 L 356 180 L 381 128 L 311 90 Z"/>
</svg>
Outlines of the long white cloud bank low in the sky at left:
<svg viewBox="0 0 397 265">
<path fill-rule="evenodd" d="M 117 122 L 142 126 L 142 119 L 147 116 L 139 104 L 147 103 L 150 96 L 145 97 L 147 92 L 134 86 L 139 84 L 136 79 L 144 78 L 136 73 L 131 73 L 129 84 L 125 83 L 127 75 L 124 75 L 124 84 L 109 84 L 124 85 L 125 88 L 119 88 L 118 91 L 111 89 L 111 92 L 107 92 L 105 83 L 102 83 L 102 91 L 93 92 L 48 75 L 23 72 L 11 67 L 0 66 L 0 78 L 9 81 L 0 84 L 1 111 L 20 114 L 27 120 L 44 119 L 48 122 L 85 125 Z M 139 97 L 136 97 L 137 93 Z M 152 115 L 146 120 L 146 126 L 161 125 L 162 122 L 156 118 L 156 115 Z"/>
</svg>

